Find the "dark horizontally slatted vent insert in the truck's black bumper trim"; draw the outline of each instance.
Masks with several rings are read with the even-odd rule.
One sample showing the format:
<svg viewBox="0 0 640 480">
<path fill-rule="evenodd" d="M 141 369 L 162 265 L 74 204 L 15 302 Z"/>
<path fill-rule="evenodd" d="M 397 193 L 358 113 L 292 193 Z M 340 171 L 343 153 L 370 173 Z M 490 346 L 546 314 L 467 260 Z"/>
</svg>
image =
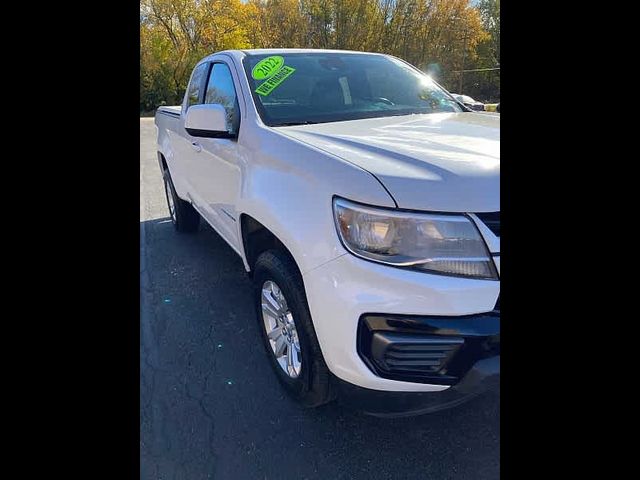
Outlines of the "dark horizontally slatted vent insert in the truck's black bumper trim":
<svg viewBox="0 0 640 480">
<path fill-rule="evenodd" d="M 378 368 L 388 375 L 437 374 L 462 346 L 462 338 L 376 332 L 371 350 Z"/>
</svg>

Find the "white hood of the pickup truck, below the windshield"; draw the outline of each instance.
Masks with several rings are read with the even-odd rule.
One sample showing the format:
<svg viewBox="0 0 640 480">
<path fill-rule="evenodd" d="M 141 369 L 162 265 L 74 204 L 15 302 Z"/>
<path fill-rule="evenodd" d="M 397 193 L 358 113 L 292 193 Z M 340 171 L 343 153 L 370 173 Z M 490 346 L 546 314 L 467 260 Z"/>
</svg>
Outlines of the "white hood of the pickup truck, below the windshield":
<svg viewBox="0 0 640 480">
<path fill-rule="evenodd" d="M 385 186 L 398 207 L 500 210 L 500 117 L 438 113 L 278 127 Z"/>
</svg>

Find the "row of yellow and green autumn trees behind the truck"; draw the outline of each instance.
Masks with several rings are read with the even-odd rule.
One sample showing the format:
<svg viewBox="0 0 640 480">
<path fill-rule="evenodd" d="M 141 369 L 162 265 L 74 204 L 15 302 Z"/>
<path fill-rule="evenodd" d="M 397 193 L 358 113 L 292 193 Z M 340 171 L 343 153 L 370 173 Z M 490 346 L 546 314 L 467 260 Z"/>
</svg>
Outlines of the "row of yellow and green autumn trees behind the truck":
<svg viewBox="0 0 640 480">
<path fill-rule="evenodd" d="M 179 104 L 198 60 L 243 48 L 389 53 L 450 91 L 500 96 L 500 0 L 141 0 L 140 111 Z"/>
</svg>

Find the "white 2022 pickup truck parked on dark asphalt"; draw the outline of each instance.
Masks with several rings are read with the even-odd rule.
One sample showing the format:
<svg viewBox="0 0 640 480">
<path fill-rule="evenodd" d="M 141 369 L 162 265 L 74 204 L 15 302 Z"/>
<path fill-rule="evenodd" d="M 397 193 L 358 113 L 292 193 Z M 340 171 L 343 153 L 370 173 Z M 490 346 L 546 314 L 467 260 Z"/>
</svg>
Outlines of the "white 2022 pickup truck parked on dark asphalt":
<svg viewBox="0 0 640 480">
<path fill-rule="evenodd" d="M 392 56 L 277 49 L 204 58 L 155 122 L 176 230 L 240 256 L 300 402 L 407 415 L 499 384 L 499 116 Z"/>
</svg>

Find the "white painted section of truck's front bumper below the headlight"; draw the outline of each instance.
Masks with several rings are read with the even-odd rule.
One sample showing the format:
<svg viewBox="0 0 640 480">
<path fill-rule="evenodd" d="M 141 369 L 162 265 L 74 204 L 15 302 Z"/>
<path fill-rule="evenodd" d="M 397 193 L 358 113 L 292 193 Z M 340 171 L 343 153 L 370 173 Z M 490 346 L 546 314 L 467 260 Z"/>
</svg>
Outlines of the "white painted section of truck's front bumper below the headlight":
<svg viewBox="0 0 640 480">
<path fill-rule="evenodd" d="M 349 254 L 305 273 L 303 279 L 327 366 L 338 380 L 355 387 L 382 392 L 444 392 L 462 383 L 473 362 L 484 359 L 477 355 L 468 357 L 462 362 L 463 366 L 452 364 L 456 367 L 453 375 L 456 378 L 445 378 L 452 375 L 422 379 L 385 375 L 362 354 L 360 319 L 371 312 L 381 312 L 378 316 L 386 317 L 437 317 L 439 324 L 431 325 L 437 327 L 437 331 L 432 328 L 423 334 L 439 335 L 455 330 L 458 335 L 451 338 L 461 337 L 465 342 L 466 337 L 490 334 L 493 343 L 497 340 L 499 344 L 499 314 L 492 320 L 476 317 L 494 310 L 500 293 L 499 281 L 408 271 Z M 475 320 L 469 320 L 471 317 Z M 489 328 L 490 322 L 493 323 Z M 492 331 L 486 331 L 487 328 Z M 496 351 L 492 355 L 495 356 Z"/>
</svg>

